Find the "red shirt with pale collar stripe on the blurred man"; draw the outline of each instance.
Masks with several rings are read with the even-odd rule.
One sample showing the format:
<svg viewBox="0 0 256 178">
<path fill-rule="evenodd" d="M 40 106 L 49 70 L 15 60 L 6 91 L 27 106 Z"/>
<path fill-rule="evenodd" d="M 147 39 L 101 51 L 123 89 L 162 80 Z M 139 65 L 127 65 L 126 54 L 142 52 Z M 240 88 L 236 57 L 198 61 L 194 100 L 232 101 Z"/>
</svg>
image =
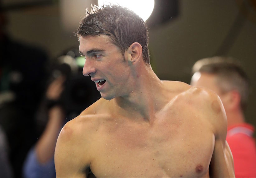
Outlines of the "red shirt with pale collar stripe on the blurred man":
<svg viewBox="0 0 256 178">
<path fill-rule="evenodd" d="M 253 133 L 254 127 L 246 123 L 228 127 L 226 140 L 234 158 L 235 177 L 256 177 L 256 144 Z"/>
</svg>

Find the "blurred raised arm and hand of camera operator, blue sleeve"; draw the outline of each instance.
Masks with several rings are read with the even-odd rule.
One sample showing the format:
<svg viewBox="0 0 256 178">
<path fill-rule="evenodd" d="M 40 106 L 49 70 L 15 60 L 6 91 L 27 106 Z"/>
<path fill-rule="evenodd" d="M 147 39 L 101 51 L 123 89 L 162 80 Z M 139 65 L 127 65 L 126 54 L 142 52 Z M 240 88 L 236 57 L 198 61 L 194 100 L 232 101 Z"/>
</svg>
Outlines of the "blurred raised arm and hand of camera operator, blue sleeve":
<svg viewBox="0 0 256 178">
<path fill-rule="evenodd" d="M 50 83 L 46 91 L 46 110 L 48 121 L 37 141 L 27 155 L 23 167 L 23 177 L 55 177 L 54 150 L 57 137 L 65 124 L 65 113 L 63 107 L 58 102 L 64 89 L 64 76 L 59 76 Z"/>
</svg>

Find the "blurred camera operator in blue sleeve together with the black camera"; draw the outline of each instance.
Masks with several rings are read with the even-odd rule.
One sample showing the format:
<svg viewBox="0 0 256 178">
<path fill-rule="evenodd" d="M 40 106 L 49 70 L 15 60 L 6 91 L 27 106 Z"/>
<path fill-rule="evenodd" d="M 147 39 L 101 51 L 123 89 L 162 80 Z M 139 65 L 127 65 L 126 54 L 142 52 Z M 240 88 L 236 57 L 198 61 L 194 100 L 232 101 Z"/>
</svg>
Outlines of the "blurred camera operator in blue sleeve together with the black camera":
<svg viewBox="0 0 256 178">
<path fill-rule="evenodd" d="M 94 82 L 82 75 L 79 60 L 84 58 L 78 49 L 64 54 L 49 66 L 49 85 L 36 116 L 37 130 L 44 128 L 24 162 L 25 178 L 56 177 L 54 151 L 61 128 L 100 98 L 100 93 L 92 90 Z"/>
</svg>

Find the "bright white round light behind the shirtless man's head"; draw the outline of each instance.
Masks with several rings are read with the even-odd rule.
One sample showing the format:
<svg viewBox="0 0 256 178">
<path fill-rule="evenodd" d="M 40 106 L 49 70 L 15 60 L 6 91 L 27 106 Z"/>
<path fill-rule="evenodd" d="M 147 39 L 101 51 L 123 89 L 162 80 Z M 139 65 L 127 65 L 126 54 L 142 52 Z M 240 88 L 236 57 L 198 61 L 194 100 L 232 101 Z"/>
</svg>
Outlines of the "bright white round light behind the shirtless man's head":
<svg viewBox="0 0 256 178">
<path fill-rule="evenodd" d="M 98 4 L 99 7 L 103 4 L 119 4 L 132 10 L 146 21 L 154 9 L 155 2 L 154 0 L 98 0 Z"/>
</svg>

